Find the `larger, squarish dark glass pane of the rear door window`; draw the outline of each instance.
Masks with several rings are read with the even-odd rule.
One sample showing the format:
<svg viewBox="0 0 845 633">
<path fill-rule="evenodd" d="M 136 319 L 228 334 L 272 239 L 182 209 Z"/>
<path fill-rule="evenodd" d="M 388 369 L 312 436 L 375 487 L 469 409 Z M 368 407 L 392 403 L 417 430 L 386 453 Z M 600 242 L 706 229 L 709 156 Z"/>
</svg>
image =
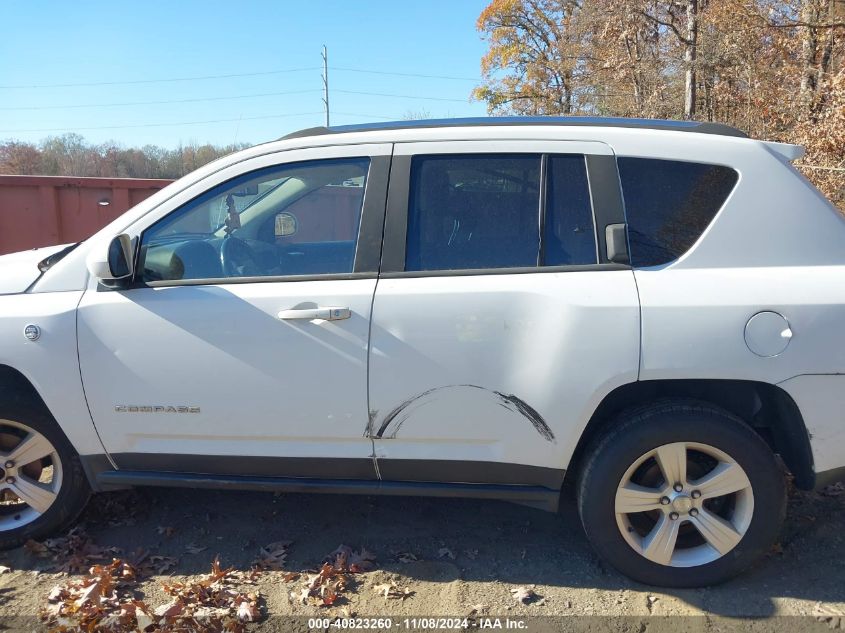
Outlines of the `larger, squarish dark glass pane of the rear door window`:
<svg viewBox="0 0 845 633">
<path fill-rule="evenodd" d="M 405 270 L 536 266 L 540 156 L 417 156 Z"/>
</svg>

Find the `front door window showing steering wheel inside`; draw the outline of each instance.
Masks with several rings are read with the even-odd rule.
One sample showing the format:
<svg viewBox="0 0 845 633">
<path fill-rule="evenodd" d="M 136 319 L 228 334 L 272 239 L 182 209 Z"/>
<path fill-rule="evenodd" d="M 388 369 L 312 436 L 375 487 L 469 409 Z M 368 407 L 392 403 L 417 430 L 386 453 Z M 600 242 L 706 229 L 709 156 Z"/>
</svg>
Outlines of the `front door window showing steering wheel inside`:
<svg viewBox="0 0 845 633">
<path fill-rule="evenodd" d="M 367 158 L 262 169 L 144 232 L 144 281 L 350 273 Z"/>
</svg>

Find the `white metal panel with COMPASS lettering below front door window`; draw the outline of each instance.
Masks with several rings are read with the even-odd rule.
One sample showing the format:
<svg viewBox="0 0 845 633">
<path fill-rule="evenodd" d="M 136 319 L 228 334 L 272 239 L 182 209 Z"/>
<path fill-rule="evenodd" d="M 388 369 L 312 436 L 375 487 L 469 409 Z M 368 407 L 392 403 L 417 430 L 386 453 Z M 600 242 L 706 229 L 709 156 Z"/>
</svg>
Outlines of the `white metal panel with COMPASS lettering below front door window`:
<svg viewBox="0 0 845 633">
<path fill-rule="evenodd" d="M 362 428 L 375 283 L 86 293 L 79 307 L 82 377 L 94 423 L 115 463 L 267 474 L 273 462 L 251 458 L 277 457 L 279 474 L 317 476 L 320 467 L 330 470 L 323 459 L 351 460 L 347 474 L 373 476 L 372 446 Z M 278 318 L 303 302 L 344 306 L 351 317 Z"/>
</svg>

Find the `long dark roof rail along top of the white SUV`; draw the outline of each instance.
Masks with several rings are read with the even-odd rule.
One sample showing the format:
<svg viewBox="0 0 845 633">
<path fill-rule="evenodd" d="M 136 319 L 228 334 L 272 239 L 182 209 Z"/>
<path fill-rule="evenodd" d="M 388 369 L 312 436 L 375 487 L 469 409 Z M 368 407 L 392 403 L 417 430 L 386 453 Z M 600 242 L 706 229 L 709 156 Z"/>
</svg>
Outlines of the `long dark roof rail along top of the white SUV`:
<svg viewBox="0 0 845 633">
<path fill-rule="evenodd" d="M 716 134 L 720 136 L 735 136 L 748 138 L 741 130 L 722 123 L 702 121 L 674 121 L 669 119 L 629 119 L 623 117 L 592 117 L 592 116 L 507 116 L 507 117 L 474 117 L 456 119 L 419 119 L 411 121 L 384 121 L 379 123 L 361 123 L 357 125 L 340 125 L 333 127 L 311 127 L 297 132 L 291 132 L 279 140 L 303 138 L 307 136 L 321 136 L 324 134 L 343 134 L 348 132 L 374 132 L 378 130 L 408 130 L 432 127 L 484 127 L 502 125 L 555 125 L 555 126 L 592 126 L 619 127 L 647 130 L 670 130 L 673 132 L 695 132 L 697 134 Z"/>
</svg>

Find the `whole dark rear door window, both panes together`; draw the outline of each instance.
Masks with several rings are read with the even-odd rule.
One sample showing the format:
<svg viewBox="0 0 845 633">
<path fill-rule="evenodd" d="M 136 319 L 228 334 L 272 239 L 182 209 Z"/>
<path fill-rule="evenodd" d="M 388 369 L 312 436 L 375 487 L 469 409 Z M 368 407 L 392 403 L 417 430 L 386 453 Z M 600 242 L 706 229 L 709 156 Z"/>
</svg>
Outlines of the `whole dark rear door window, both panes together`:
<svg viewBox="0 0 845 633">
<path fill-rule="evenodd" d="M 545 185 L 542 160 L 539 154 L 414 157 L 405 270 L 595 264 L 584 156 L 548 156 Z"/>
</svg>

